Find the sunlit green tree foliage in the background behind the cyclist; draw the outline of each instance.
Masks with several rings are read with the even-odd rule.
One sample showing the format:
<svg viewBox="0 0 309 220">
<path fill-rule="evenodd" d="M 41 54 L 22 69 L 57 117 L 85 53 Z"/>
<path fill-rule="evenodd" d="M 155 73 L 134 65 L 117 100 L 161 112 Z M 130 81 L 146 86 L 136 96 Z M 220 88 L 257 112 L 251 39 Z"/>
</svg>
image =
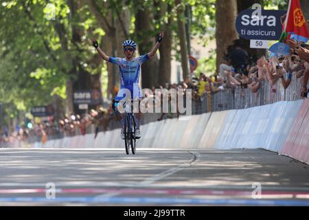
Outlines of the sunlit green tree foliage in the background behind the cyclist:
<svg viewBox="0 0 309 220">
<path fill-rule="evenodd" d="M 55 7 L 54 20 L 47 19 L 51 12 L 47 8 L 48 3 Z M 286 3 L 264 0 L 267 7 L 279 5 L 279 8 L 284 8 Z M 189 16 L 183 15 L 179 19 L 190 23 L 190 36 L 198 36 L 204 45 L 215 36 L 215 5 L 216 0 L 183 0 L 179 5 L 183 9 L 189 8 L 191 12 Z M 165 10 L 162 11 L 162 8 Z M 151 29 L 136 31 L 135 15 L 139 10 L 150 13 Z M 122 12 L 130 12 L 128 19 L 122 17 Z M 65 102 L 69 80 L 72 80 L 74 88 L 78 88 L 86 81 L 85 77 L 91 78 L 96 74 L 108 76 L 102 80 L 102 92 L 107 94 L 107 84 L 112 82 L 111 74 L 107 74 L 106 63 L 102 62 L 87 40 L 96 38 L 104 48 L 115 45 L 117 55 L 122 56 L 116 39 L 106 42 L 115 27 L 119 27 L 117 34 L 135 39 L 138 44 L 146 38 L 153 39 L 148 42 L 150 48 L 157 34 L 169 28 L 172 54 L 181 61 L 176 13 L 175 0 L 1 1 L 0 102 L 9 112 L 5 115 L 13 118 L 18 111 L 29 112 L 34 106 L 51 104 L 53 96 L 59 96 Z M 126 27 L 129 27 L 128 32 Z M 215 54 L 212 54 L 212 57 L 204 58 L 205 70 L 214 69 L 214 57 Z M 84 83 L 83 87 L 87 86 Z M 83 87 L 80 86 L 81 89 Z"/>
</svg>

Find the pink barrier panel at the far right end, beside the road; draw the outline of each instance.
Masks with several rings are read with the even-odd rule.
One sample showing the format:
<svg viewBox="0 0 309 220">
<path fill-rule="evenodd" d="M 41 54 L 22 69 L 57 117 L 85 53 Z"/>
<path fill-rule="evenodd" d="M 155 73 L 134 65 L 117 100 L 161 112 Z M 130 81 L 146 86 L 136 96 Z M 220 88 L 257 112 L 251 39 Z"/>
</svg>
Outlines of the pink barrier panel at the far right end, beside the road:
<svg viewBox="0 0 309 220">
<path fill-rule="evenodd" d="M 309 99 L 304 100 L 297 118 L 288 134 L 286 143 L 279 152 L 301 162 L 309 162 Z"/>
</svg>

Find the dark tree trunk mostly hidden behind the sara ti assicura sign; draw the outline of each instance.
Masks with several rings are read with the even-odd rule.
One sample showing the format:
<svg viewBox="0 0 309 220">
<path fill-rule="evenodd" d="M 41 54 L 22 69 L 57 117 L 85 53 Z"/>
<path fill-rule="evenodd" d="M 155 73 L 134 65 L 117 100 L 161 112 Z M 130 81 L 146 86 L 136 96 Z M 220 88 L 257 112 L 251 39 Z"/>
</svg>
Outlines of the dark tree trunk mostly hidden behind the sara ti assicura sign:
<svg viewBox="0 0 309 220">
<path fill-rule="evenodd" d="M 262 8 L 264 6 L 263 0 L 247 0 L 247 1 L 237 0 L 238 14 L 243 10 L 252 8 L 252 5 L 255 3 L 259 3 L 262 6 Z M 248 52 L 249 56 L 251 56 L 250 60 L 253 61 L 255 61 L 257 58 L 261 56 L 265 56 L 266 54 L 265 49 L 250 48 L 250 40 L 247 39 L 242 39 L 242 48 Z"/>
</svg>

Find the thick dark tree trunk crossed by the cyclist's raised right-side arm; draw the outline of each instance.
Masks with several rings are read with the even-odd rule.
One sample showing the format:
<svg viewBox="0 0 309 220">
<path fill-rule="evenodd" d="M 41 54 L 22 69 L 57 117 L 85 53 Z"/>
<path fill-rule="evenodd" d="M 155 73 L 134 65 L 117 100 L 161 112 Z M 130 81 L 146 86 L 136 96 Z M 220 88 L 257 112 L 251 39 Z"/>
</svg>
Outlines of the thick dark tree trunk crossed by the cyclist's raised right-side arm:
<svg viewBox="0 0 309 220">
<path fill-rule="evenodd" d="M 155 38 L 150 34 L 153 29 L 151 25 L 151 14 L 150 10 L 143 8 L 137 10 L 135 14 L 137 38 L 141 39 L 141 41 L 138 42 L 139 54 L 141 55 L 150 52 L 155 45 Z M 158 62 L 156 54 L 150 61 L 141 65 L 141 85 L 143 88 L 150 89 L 152 86 L 157 85 Z"/>
</svg>

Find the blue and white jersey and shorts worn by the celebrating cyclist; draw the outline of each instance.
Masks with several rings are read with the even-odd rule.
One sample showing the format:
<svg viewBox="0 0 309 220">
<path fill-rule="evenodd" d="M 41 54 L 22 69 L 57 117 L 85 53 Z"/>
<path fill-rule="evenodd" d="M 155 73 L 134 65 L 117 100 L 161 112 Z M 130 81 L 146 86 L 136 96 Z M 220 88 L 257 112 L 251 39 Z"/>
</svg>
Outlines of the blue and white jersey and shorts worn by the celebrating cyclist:
<svg viewBox="0 0 309 220">
<path fill-rule="evenodd" d="M 148 61 L 149 57 L 147 54 L 133 58 L 132 61 L 127 61 L 126 58 L 110 57 L 109 62 L 119 66 L 121 87 L 115 98 L 116 101 L 125 98 L 123 89 L 130 90 L 131 98 L 142 98 L 139 89 L 139 76 L 141 74 L 141 65 Z"/>
</svg>

